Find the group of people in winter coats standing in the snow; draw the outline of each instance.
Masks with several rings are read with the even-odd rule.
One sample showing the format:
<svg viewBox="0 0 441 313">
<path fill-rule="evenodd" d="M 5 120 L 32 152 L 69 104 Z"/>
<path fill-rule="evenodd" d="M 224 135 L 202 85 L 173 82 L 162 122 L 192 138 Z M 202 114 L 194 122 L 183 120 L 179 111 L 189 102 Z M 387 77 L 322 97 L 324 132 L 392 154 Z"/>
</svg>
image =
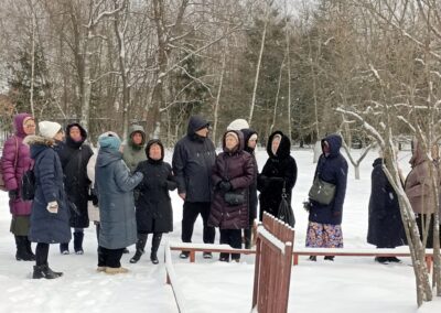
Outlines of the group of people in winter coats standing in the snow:
<svg viewBox="0 0 441 313">
<path fill-rule="evenodd" d="M 217 227 L 220 244 L 241 248 L 244 241 L 249 249 L 256 219 L 261 220 L 263 212 L 278 216 L 282 196 L 291 203 L 297 182 L 298 168 L 289 138 L 281 131 L 269 136 L 269 158 L 259 173 L 254 153 L 258 134 L 241 119 L 228 126 L 222 139 L 222 152 L 216 155 L 208 138 L 209 123 L 202 117 L 191 117 L 186 136 L 174 147 L 172 164 L 164 161 L 162 142 L 158 139 L 147 142 L 140 126 L 131 127 L 123 145 L 115 132 L 100 134 L 97 155 L 86 143 L 87 132 L 79 123 L 68 125 L 64 132 L 57 122 L 41 121 L 36 136 L 34 118 L 19 114 L 14 117 L 14 128 L 15 133 L 4 143 L 1 166 L 10 197 L 15 258 L 35 260 L 35 279 L 63 274 L 49 267 L 49 247 L 60 244 L 61 253 L 68 255 L 71 228 L 74 252 L 84 253 L 84 228 L 89 226 L 89 217 L 97 230 L 98 271 L 127 272 L 120 263 L 122 253 L 136 244 L 130 262 L 137 263 L 144 253 L 149 234 L 152 234 L 150 260 L 158 263 L 162 234 L 173 230 L 169 192 L 175 188 L 184 202 L 183 242 L 192 241 L 194 224 L 201 215 L 205 244 L 214 244 Z M 341 224 L 347 183 L 347 163 L 340 153 L 342 138 L 327 136 L 321 147 L 313 186 L 330 185 L 332 196 L 322 201 L 310 192 L 305 205 L 309 211 L 306 247 L 342 248 Z M 427 171 L 430 166 L 438 170 L 438 163 L 424 158 L 417 141 L 412 152 L 412 171 L 404 184 L 417 214 L 420 234 L 430 225 L 427 247 L 431 247 L 433 222 L 430 224 L 430 220 L 434 204 L 422 202 L 430 202 L 427 195 L 433 193 L 426 182 Z M 384 158 L 374 162 L 368 242 L 378 248 L 394 248 L 405 244 L 405 236 L 397 196 L 383 173 L 384 162 Z M 35 195 L 33 201 L 23 201 L 21 179 L 30 169 L 35 176 Z M 90 202 L 99 213 L 95 217 L 92 217 Z M 35 255 L 31 242 L 36 242 Z M 213 258 L 211 252 L 203 256 Z M 182 251 L 180 257 L 187 258 L 189 252 Z M 333 257 L 325 259 L 333 260 Z M 220 253 L 219 260 L 239 261 L 240 255 Z M 399 261 L 396 258 L 376 260 Z"/>
</svg>

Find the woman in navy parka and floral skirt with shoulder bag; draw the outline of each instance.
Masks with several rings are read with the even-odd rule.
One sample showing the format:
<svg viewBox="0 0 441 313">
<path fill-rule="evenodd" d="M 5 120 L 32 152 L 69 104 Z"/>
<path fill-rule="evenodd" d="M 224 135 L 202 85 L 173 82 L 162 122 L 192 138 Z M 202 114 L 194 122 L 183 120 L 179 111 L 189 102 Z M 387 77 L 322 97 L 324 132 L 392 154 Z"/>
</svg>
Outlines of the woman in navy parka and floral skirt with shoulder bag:
<svg viewBox="0 0 441 313">
<path fill-rule="evenodd" d="M 342 138 L 338 134 L 327 136 L 322 140 L 323 153 L 320 155 L 315 176 L 335 185 L 335 195 L 327 205 L 310 199 L 306 247 L 343 248 L 342 217 L 346 194 L 347 162 L 340 153 Z M 315 261 L 314 256 L 310 260 Z M 334 260 L 326 256 L 325 260 Z"/>
</svg>

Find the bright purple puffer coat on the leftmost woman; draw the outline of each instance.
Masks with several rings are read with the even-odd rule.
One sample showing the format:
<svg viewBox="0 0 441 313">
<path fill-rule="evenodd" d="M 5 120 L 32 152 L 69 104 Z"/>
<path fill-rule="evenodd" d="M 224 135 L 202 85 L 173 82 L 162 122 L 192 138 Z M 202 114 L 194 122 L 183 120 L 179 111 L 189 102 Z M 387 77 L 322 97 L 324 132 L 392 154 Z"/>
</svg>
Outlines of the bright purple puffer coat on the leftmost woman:
<svg viewBox="0 0 441 313">
<path fill-rule="evenodd" d="M 14 117 L 15 134 L 8 138 L 4 142 L 3 155 L 0 164 L 3 170 L 3 180 L 7 190 L 18 191 L 18 197 L 9 201 L 9 209 L 14 216 L 30 215 L 32 206 L 32 202 L 23 201 L 20 197 L 21 177 L 24 172 L 33 166 L 29 145 L 23 143 L 23 139 L 26 137 L 23 129 L 23 121 L 28 117 L 31 116 L 28 114 L 19 114 Z"/>
</svg>

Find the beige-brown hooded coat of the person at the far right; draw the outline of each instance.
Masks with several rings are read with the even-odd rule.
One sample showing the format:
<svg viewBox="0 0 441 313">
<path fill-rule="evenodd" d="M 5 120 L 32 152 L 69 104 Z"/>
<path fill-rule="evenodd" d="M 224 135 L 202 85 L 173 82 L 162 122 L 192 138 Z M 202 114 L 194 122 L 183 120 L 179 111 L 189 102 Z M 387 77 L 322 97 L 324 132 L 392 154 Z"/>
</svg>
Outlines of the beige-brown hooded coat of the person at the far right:
<svg viewBox="0 0 441 313">
<path fill-rule="evenodd" d="M 432 168 L 432 173 L 437 175 L 435 180 L 439 182 L 437 166 L 426 156 L 421 144 L 417 140 L 413 141 L 413 147 L 412 158 L 409 161 L 412 170 L 407 175 L 405 192 L 415 213 L 433 214 L 435 209 L 435 191 L 430 175 L 430 168 Z"/>
</svg>

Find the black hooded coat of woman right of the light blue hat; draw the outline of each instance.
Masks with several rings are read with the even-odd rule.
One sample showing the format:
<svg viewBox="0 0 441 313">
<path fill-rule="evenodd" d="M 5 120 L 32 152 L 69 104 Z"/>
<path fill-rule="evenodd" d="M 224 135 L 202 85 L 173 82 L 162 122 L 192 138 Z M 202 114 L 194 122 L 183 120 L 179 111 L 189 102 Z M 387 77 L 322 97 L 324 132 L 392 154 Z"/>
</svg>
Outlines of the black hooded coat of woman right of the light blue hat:
<svg viewBox="0 0 441 313">
<path fill-rule="evenodd" d="M 172 166 L 163 161 L 164 148 L 159 140 L 150 140 L 146 151 L 153 143 L 161 147 L 161 160 L 148 158 L 138 164 L 136 172 L 141 172 L 144 177 L 137 186 L 139 193 L 136 201 L 137 229 L 140 234 L 173 231 L 173 211 L 169 191 L 178 186 L 174 181 Z"/>
</svg>

